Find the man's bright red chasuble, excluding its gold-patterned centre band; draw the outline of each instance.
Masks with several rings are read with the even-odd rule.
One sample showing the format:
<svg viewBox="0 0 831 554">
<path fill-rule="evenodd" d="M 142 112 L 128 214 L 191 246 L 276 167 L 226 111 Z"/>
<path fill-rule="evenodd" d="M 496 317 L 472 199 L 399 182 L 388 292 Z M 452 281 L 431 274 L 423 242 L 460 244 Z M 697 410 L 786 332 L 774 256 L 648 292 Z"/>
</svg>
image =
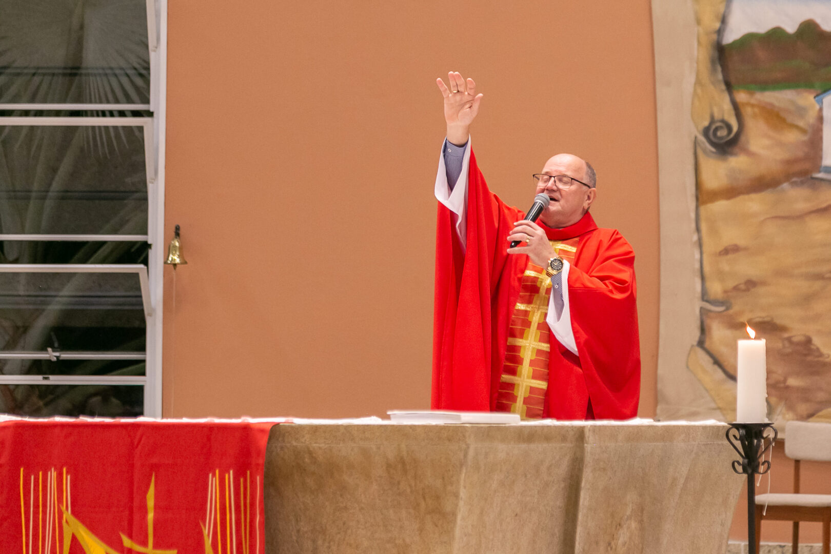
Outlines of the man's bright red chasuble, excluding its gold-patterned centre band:
<svg viewBox="0 0 831 554">
<path fill-rule="evenodd" d="M 505 252 L 524 212 L 491 193 L 470 153 L 467 249 L 448 208 L 439 203 L 433 328 L 434 409 L 493 411 L 529 257 Z M 597 419 L 637 414 L 641 355 L 635 302 L 635 255 L 617 230 L 578 223 L 545 229 L 550 240 L 577 238 L 568 298 L 578 355 L 551 334 L 543 417 Z M 550 290 L 550 289 L 549 289 Z M 550 332 L 550 331 L 549 331 Z"/>
</svg>

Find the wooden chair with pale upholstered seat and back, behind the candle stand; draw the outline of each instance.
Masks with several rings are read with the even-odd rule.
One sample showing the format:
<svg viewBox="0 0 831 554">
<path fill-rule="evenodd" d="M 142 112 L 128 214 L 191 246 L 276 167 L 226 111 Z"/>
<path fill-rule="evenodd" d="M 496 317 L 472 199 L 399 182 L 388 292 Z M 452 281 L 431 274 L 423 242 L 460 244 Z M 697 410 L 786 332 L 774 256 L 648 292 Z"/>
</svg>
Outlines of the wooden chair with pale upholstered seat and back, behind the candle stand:
<svg viewBox="0 0 831 554">
<path fill-rule="evenodd" d="M 785 424 L 784 453 L 794 460 L 794 493 L 770 493 L 756 496 L 756 552 L 759 552 L 763 519 L 794 522 L 794 544 L 799 552 L 799 522 L 822 522 L 823 554 L 831 542 L 831 494 L 799 493 L 799 462 L 831 462 L 831 424 L 789 421 Z M 762 510 L 768 505 L 767 513 Z"/>
</svg>

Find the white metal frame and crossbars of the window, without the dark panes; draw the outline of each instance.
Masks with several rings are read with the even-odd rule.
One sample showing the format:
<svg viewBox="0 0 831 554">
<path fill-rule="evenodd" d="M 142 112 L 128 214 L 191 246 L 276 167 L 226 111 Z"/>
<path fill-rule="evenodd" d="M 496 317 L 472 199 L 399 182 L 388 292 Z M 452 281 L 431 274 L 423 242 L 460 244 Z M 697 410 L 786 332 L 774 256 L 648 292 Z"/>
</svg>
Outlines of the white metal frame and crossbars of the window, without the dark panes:
<svg viewBox="0 0 831 554">
<path fill-rule="evenodd" d="M 150 51 L 150 104 L 0 104 L 0 110 L 144 110 L 150 117 L 0 117 L 2 125 L 141 126 L 147 173 L 146 235 L 0 233 L 2 240 L 138 241 L 150 245 L 148 264 L 0 264 L 0 272 L 132 272 L 140 280 L 145 310 L 145 352 L 0 352 L 0 359 L 145 360 L 145 375 L 0 375 L 10 385 L 140 385 L 145 417 L 162 416 L 162 310 L 164 306 L 165 129 L 167 114 L 167 0 L 145 0 Z M 155 248 L 154 248 L 155 247 Z"/>
</svg>

